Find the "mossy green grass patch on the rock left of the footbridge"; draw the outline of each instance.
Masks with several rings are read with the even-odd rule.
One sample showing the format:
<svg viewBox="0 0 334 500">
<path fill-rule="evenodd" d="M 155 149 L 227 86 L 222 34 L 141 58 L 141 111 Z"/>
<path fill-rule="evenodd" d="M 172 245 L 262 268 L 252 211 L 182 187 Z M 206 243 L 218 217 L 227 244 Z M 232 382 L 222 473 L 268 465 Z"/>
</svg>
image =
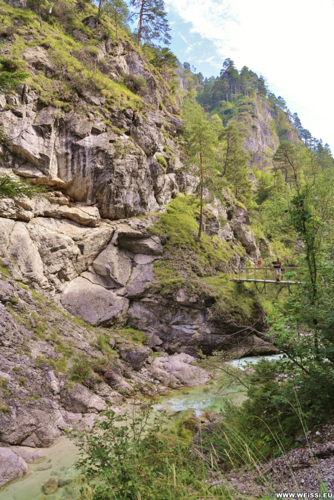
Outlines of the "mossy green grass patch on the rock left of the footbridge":
<svg viewBox="0 0 334 500">
<path fill-rule="evenodd" d="M 195 196 L 179 195 L 159 216 L 153 232 L 164 243 L 163 258 L 154 264 L 156 286 L 164 296 L 180 288 L 212 305 L 217 319 L 250 318 L 259 307 L 253 293 L 229 281 L 233 256 L 244 256 L 239 244 L 202 234 L 197 241 L 199 207 Z"/>
</svg>

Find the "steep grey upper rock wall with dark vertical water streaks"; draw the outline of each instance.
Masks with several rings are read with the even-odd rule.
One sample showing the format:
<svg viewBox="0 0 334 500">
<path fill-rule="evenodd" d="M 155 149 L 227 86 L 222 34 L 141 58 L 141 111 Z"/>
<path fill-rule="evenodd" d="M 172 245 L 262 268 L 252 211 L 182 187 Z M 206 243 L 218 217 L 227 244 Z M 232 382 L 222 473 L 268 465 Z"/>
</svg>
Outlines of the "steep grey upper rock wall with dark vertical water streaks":
<svg viewBox="0 0 334 500">
<path fill-rule="evenodd" d="M 33 75 L 57 77 L 47 49 L 28 47 L 23 58 Z M 101 42 L 98 60 L 113 80 L 124 75 L 144 78 L 148 90 L 142 109 L 120 102 L 110 112 L 103 107 L 103 95 L 87 92 L 72 111 L 41 106 L 38 92 L 25 83 L 0 94 L 0 166 L 55 186 L 71 202 L 97 207 L 105 218 L 159 210 L 179 186 L 189 190 L 174 140 L 182 129 L 179 110 L 168 103 L 167 86 L 128 42 Z M 165 158 L 167 169 L 156 154 Z"/>
</svg>

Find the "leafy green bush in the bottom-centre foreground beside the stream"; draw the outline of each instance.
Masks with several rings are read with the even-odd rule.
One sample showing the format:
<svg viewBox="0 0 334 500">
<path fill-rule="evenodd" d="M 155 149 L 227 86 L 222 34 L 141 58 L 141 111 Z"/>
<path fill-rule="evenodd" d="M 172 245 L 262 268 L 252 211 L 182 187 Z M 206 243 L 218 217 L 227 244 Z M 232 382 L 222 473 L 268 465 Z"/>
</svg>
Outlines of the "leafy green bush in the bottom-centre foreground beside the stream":
<svg viewBox="0 0 334 500">
<path fill-rule="evenodd" d="M 82 450 L 77 467 L 86 476 L 93 497 L 99 500 L 188 500 L 213 493 L 230 498 L 224 486 L 211 487 L 205 480 L 205 463 L 163 433 L 163 419 L 148 424 L 148 413 L 106 419 L 91 430 L 73 432 Z"/>
</svg>

